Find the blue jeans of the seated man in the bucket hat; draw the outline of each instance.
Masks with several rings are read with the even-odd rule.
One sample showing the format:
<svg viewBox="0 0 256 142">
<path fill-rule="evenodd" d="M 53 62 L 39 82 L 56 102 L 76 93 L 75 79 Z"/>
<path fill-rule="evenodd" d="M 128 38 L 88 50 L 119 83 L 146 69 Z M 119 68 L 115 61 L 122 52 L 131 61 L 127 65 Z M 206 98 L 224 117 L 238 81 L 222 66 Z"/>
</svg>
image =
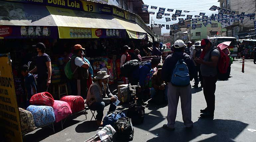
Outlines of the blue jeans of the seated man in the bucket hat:
<svg viewBox="0 0 256 142">
<path fill-rule="evenodd" d="M 108 112 L 112 112 L 116 110 L 116 106 L 111 102 L 110 104 L 105 104 L 104 102 L 94 102 L 92 105 L 89 106 L 89 109 L 92 111 L 97 111 L 96 120 L 103 119 L 103 111 L 106 106 L 109 106 Z"/>
</svg>

